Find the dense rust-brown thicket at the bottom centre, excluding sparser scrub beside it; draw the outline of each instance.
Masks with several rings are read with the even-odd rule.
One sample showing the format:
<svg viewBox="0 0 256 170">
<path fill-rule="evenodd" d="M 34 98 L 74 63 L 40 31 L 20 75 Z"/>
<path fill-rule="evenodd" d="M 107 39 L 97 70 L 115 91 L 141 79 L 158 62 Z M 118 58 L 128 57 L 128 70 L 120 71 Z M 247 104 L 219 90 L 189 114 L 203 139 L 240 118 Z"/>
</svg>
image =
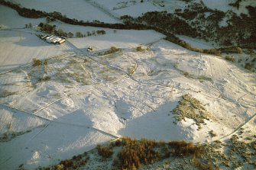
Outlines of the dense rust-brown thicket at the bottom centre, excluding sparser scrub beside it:
<svg viewBox="0 0 256 170">
<path fill-rule="evenodd" d="M 132 140 L 124 138 L 123 147 L 118 153 L 118 161 L 121 169 L 134 170 L 142 164 L 167 159 L 170 156 L 199 156 L 203 149 L 185 141 L 171 141 L 169 143 L 156 142 L 154 140 Z"/>
</svg>

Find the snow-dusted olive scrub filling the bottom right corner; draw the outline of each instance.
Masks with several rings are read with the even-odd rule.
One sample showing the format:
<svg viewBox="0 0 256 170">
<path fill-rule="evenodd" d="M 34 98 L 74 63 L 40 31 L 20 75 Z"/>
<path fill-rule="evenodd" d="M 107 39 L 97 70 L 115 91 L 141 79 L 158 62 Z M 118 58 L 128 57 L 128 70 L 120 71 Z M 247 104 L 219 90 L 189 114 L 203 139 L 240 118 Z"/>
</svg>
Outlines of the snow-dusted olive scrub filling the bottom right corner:
<svg viewBox="0 0 256 170">
<path fill-rule="evenodd" d="M 215 169 L 248 169 L 256 168 L 256 140 L 249 143 L 233 135 L 225 143 L 217 140 L 203 148 L 200 161 L 214 165 Z"/>
</svg>

